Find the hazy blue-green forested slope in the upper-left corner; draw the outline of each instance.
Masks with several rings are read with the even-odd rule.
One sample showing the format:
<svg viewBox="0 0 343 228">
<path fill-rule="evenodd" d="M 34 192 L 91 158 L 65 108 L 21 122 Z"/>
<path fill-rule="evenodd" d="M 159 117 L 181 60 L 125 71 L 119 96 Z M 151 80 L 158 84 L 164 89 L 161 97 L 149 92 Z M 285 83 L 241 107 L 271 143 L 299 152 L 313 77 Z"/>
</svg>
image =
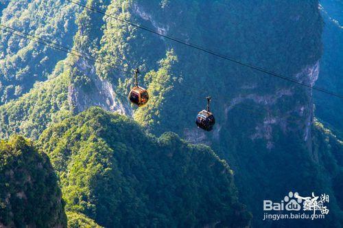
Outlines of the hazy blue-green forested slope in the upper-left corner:
<svg viewBox="0 0 343 228">
<path fill-rule="evenodd" d="M 60 0 L 3 1 L 0 4 L 2 25 L 29 34 L 30 38 L 36 36 L 72 47 L 77 29 L 75 20 L 80 12 L 75 5 Z M 55 52 L 51 47 L 3 29 L 14 32 L 4 27 L 0 30 L 0 104 L 27 93 L 34 82 L 47 80 L 56 63 L 66 57 L 65 52 Z"/>
</svg>

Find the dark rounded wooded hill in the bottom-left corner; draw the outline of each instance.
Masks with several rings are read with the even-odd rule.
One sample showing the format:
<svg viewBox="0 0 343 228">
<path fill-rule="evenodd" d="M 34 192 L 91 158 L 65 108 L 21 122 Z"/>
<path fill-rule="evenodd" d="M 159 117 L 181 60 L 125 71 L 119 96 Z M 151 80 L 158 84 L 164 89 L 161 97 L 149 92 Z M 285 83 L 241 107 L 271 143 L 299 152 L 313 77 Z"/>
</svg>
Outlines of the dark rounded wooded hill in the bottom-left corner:
<svg viewBox="0 0 343 228">
<path fill-rule="evenodd" d="M 0 142 L 0 180 L 0 227 L 67 226 L 54 169 L 31 141 Z"/>
</svg>

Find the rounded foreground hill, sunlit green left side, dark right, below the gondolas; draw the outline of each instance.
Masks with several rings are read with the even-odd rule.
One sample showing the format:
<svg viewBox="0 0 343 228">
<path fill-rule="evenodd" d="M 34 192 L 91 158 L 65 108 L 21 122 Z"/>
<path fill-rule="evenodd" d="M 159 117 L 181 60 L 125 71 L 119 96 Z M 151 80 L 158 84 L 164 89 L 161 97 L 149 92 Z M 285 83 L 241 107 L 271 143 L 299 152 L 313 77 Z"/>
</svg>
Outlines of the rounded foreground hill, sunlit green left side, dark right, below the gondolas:
<svg viewBox="0 0 343 228">
<path fill-rule="evenodd" d="M 40 136 L 66 209 L 104 227 L 247 227 L 233 172 L 207 146 L 156 138 L 130 119 L 92 108 Z"/>
</svg>

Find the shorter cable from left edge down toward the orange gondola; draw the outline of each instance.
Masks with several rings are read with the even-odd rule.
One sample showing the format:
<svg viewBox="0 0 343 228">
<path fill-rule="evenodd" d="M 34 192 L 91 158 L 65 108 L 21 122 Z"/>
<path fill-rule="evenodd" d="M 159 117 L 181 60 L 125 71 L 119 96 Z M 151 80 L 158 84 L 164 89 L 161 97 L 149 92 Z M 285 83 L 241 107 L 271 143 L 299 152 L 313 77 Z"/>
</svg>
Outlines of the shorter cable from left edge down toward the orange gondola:
<svg viewBox="0 0 343 228">
<path fill-rule="evenodd" d="M 91 55 L 88 55 L 88 54 L 84 54 L 83 52 L 79 52 L 78 50 L 70 49 L 69 47 L 64 47 L 63 45 L 59 45 L 58 43 L 54 43 L 54 42 L 51 42 L 51 41 L 47 41 L 47 40 L 45 40 L 45 39 L 43 39 L 43 38 L 38 38 L 37 36 L 32 36 L 32 35 L 29 35 L 29 34 L 27 34 L 27 33 L 25 33 L 25 32 L 20 32 L 19 30 L 16 30 L 16 29 L 14 29 L 14 28 L 12 28 L 12 27 L 8 27 L 8 26 L 6 26 L 6 25 L 0 24 L 0 26 L 6 28 L 6 29 L 0 28 L 0 30 L 3 30 L 3 31 L 5 31 L 5 32 L 10 32 L 10 31 L 7 30 L 7 29 L 10 29 L 10 30 L 13 30 L 13 31 L 15 31 L 15 32 L 19 32 L 19 33 L 20 33 L 20 34 L 16 34 L 15 32 L 10 32 L 11 34 L 14 34 L 14 35 L 16 35 L 16 36 L 20 36 L 20 37 L 25 38 L 25 39 L 28 39 L 28 40 L 30 40 L 30 41 L 35 41 L 35 42 L 37 42 L 37 43 L 40 43 L 41 45 L 45 45 L 45 46 L 48 46 L 48 47 L 51 47 L 51 48 L 54 48 L 54 49 L 58 49 L 58 50 L 60 50 L 60 51 L 62 51 L 62 52 L 67 52 L 67 53 L 72 54 L 72 55 L 74 55 L 74 56 L 78 56 L 78 57 L 80 57 L 80 58 L 84 58 L 84 59 L 86 59 L 86 60 L 90 60 L 90 61 L 92 61 L 92 62 L 99 63 L 99 64 L 104 65 L 104 66 L 106 66 L 106 67 L 110 67 L 110 68 L 112 68 L 112 69 L 115 69 L 115 70 L 118 70 L 118 71 L 122 71 L 123 73 L 128 73 L 128 71 L 124 71 L 123 69 L 119 69 L 119 65 L 113 65 L 112 63 L 110 63 L 110 64 L 105 64 L 105 63 L 100 62 L 99 60 L 97 60 L 97 58 L 95 58 L 95 57 L 93 57 L 93 56 L 91 56 Z M 38 39 L 38 41 L 35 40 L 34 38 L 29 38 L 28 36 L 32 36 L 32 37 Z M 55 46 L 54 46 L 54 45 L 55 45 Z M 56 46 L 58 46 L 58 47 L 56 47 Z M 61 47 L 61 48 L 60 48 L 60 47 Z M 75 54 L 75 53 L 73 53 L 73 52 L 77 52 L 77 53 L 79 53 L 79 54 Z M 86 56 L 84 56 L 84 55 L 86 55 Z"/>
</svg>

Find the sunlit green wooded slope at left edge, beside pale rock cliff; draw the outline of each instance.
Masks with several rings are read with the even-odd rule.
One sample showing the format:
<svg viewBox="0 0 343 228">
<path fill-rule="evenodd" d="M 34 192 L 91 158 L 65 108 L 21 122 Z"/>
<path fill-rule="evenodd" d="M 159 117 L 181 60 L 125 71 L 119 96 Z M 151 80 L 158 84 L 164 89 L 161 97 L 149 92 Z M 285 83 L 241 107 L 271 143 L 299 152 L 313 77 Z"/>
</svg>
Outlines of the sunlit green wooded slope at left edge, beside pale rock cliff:
<svg viewBox="0 0 343 228">
<path fill-rule="evenodd" d="M 65 71 L 47 82 L 36 83 L 19 100 L 0 106 L 1 137 L 20 132 L 25 137 L 36 138 L 50 123 L 70 116 L 69 84 L 69 73 Z"/>
</svg>

